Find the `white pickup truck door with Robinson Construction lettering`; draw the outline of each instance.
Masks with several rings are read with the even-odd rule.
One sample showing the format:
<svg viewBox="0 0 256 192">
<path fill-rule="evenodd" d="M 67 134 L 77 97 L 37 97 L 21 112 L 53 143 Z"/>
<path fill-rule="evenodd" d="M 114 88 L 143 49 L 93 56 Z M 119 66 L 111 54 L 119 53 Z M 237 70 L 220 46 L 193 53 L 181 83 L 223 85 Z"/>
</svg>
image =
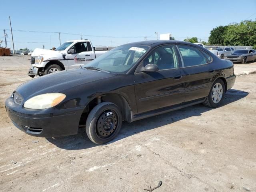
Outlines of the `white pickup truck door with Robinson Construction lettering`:
<svg viewBox="0 0 256 192">
<path fill-rule="evenodd" d="M 94 60 L 95 54 L 92 50 L 90 42 L 78 42 L 70 49 L 74 49 L 74 54 L 68 54 L 68 69 L 85 66 L 90 61 Z"/>
</svg>

